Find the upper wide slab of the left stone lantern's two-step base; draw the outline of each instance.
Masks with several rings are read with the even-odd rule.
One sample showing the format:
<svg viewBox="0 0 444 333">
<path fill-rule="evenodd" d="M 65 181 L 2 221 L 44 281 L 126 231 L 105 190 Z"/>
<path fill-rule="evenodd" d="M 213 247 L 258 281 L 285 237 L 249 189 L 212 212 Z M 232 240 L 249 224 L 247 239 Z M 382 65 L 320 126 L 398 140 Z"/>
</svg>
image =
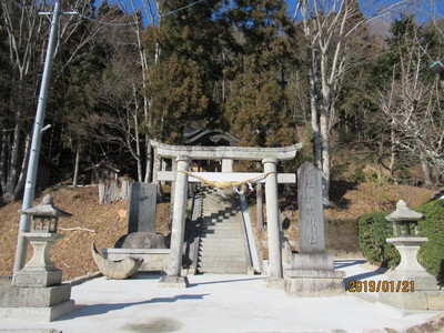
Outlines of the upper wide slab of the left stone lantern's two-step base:
<svg viewBox="0 0 444 333">
<path fill-rule="evenodd" d="M 49 287 L 3 286 L 0 289 L 0 306 L 50 307 L 69 301 L 71 284 Z"/>
</svg>

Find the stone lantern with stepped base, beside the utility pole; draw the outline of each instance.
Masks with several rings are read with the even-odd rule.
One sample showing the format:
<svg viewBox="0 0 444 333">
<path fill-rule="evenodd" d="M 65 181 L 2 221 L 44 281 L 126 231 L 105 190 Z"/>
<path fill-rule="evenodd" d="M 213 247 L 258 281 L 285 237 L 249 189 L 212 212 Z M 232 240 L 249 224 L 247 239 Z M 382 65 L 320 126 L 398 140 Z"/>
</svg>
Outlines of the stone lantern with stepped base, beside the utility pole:
<svg viewBox="0 0 444 333">
<path fill-rule="evenodd" d="M 71 285 L 62 283 L 62 272 L 49 255 L 52 245 L 63 238 L 57 233 L 59 216 L 71 214 L 56 208 L 50 195 L 21 213 L 32 216 L 31 230 L 23 236 L 33 248 L 33 256 L 14 274 L 10 286 L 0 289 L 0 320 L 50 322 L 74 309 Z"/>
</svg>

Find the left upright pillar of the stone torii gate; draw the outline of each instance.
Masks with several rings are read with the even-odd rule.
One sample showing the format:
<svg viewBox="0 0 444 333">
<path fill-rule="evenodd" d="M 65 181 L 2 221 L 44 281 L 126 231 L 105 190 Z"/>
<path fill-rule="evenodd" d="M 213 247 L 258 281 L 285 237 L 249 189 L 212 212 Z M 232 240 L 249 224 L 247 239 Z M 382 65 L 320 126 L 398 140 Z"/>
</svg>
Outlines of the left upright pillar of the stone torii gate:
<svg viewBox="0 0 444 333">
<path fill-rule="evenodd" d="M 168 265 L 168 275 L 162 276 L 158 283 L 159 286 L 186 287 L 188 278 L 181 276 L 183 239 L 185 233 L 185 211 L 188 195 L 189 175 L 180 171 L 189 171 L 191 158 L 179 157 L 178 172 L 175 176 L 175 192 L 173 206 L 173 224 L 171 233 L 170 262 Z"/>
</svg>

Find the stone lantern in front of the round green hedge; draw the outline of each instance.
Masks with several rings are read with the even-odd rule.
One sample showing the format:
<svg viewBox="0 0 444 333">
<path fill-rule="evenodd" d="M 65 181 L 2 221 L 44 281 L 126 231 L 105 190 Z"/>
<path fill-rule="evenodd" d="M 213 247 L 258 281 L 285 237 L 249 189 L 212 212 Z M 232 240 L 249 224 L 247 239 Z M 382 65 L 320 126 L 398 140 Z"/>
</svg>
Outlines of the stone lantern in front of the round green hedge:
<svg viewBox="0 0 444 333">
<path fill-rule="evenodd" d="M 387 239 L 387 243 L 395 245 L 401 262 L 394 271 L 386 273 L 389 280 L 383 281 L 380 301 L 405 310 L 444 310 L 444 292 L 437 290 L 435 276 L 428 274 L 417 261 L 421 244 L 428 241 L 420 235 L 417 229 L 417 221 L 423 219 L 423 214 L 412 211 L 400 200 L 396 211 L 385 219 L 393 223 L 394 236 Z"/>
</svg>

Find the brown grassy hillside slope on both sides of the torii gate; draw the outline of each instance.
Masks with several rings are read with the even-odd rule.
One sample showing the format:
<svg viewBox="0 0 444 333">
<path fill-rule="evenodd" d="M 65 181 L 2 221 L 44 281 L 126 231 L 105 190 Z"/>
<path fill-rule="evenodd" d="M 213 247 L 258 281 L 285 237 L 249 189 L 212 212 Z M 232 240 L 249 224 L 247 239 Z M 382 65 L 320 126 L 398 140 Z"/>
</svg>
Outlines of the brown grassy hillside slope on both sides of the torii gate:
<svg viewBox="0 0 444 333">
<path fill-rule="evenodd" d="M 128 202 L 99 204 L 98 188 L 92 186 L 50 189 L 36 200 L 36 204 L 40 203 L 42 196 L 48 193 L 54 198 L 57 206 L 73 214 L 70 219 L 60 219 L 59 232 L 64 234 L 64 239 L 56 243 L 51 251 L 53 262 L 63 271 L 63 279 L 69 280 L 95 272 L 98 269 L 91 256 L 91 243 L 95 243 L 98 249 L 113 248 L 115 241 L 127 233 Z M 433 193 L 434 191 L 431 190 L 393 184 L 336 184 L 332 195 L 335 208 L 326 210 L 325 215 L 357 218 L 375 210 L 390 211 L 395 208 L 395 203 L 401 198 L 415 206 L 422 204 Z M 294 199 L 287 200 L 283 205 L 286 205 L 283 209 L 295 210 Z M 12 274 L 20 208 L 20 203 L 0 208 L 0 276 Z M 167 215 L 168 204 L 159 204 L 158 232 L 164 235 L 169 233 L 168 223 L 165 223 Z M 294 234 L 299 234 L 299 228 L 295 224 L 296 222 L 292 223 L 291 229 L 295 229 Z M 29 250 L 28 256 L 31 254 L 32 250 Z"/>
</svg>

